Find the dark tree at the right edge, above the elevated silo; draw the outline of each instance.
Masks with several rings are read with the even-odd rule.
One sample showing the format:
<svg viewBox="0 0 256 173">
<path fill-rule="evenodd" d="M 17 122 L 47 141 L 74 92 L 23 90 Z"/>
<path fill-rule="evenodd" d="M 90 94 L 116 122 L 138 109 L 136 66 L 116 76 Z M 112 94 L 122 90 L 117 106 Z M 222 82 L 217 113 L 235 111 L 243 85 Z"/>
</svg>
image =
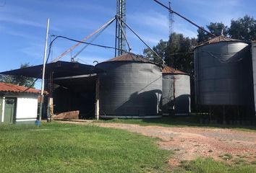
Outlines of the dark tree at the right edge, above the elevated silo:
<svg viewBox="0 0 256 173">
<path fill-rule="evenodd" d="M 239 19 L 232 19 L 229 36 L 238 40 L 256 40 L 256 20 L 248 15 Z"/>
</svg>

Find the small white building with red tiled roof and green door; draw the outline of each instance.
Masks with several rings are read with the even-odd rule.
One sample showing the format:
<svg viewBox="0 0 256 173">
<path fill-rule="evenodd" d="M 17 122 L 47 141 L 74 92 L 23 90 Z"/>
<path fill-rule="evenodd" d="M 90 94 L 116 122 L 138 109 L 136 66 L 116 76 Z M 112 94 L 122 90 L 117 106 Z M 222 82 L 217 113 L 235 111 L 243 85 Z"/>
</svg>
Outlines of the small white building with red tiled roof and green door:
<svg viewBox="0 0 256 173">
<path fill-rule="evenodd" d="M 40 90 L 0 82 L 0 123 L 35 123 Z"/>
</svg>

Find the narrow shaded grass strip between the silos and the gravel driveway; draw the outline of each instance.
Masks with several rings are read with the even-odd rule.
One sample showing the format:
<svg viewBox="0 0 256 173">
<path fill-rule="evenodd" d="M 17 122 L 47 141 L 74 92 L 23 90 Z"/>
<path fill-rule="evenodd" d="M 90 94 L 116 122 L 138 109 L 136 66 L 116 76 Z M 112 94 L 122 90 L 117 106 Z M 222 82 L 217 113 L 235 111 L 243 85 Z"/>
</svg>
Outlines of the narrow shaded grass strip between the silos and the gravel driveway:
<svg viewBox="0 0 256 173">
<path fill-rule="evenodd" d="M 236 130 L 250 131 L 256 130 L 256 126 L 252 125 L 222 125 L 222 124 L 208 124 L 200 123 L 200 116 L 180 116 L 180 117 L 161 117 L 155 119 L 110 119 L 95 121 L 99 123 L 128 123 L 137 125 L 159 125 L 163 127 L 200 127 L 200 128 L 231 128 Z"/>
</svg>

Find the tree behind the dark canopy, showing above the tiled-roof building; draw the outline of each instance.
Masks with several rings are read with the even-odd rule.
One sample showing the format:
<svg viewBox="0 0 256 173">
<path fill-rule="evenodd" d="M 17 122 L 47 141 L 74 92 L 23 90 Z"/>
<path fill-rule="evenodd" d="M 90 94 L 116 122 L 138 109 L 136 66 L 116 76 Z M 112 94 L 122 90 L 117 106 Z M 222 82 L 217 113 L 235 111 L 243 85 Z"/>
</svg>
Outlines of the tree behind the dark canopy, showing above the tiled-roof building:
<svg viewBox="0 0 256 173">
<path fill-rule="evenodd" d="M 22 63 L 20 65 L 20 68 L 26 68 L 29 67 L 29 63 Z M 30 77 L 25 77 L 25 76 L 11 76 L 11 75 L 0 75 L 0 81 L 4 83 L 9 83 L 9 84 L 17 84 L 20 86 L 25 86 L 25 87 L 33 87 L 33 78 Z"/>
</svg>

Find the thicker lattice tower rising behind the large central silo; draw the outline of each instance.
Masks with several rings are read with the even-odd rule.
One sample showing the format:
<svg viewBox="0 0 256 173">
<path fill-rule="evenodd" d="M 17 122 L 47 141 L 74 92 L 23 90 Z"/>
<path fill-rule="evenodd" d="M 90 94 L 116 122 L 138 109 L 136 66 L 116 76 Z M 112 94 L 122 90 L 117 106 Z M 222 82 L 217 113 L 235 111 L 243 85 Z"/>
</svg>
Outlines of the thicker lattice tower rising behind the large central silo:
<svg viewBox="0 0 256 173">
<path fill-rule="evenodd" d="M 116 15 L 126 22 L 126 0 L 116 0 Z M 126 26 L 121 22 L 121 26 L 116 21 L 116 53 L 115 56 L 121 56 L 126 51 L 125 36 L 121 32 L 121 27 L 126 33 Z"/>
</svg>

